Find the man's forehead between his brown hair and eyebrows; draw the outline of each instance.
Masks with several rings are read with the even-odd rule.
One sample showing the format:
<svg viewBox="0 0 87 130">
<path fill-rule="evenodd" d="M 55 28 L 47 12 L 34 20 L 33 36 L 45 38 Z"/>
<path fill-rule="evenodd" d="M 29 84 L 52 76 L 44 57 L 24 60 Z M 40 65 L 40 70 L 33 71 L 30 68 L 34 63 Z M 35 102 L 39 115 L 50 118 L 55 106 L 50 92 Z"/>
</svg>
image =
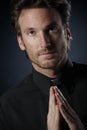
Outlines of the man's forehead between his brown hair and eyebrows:
<svg viewBox="0 0 87 130">
<path fill-rule="evenodd" d="M 22 10 L 19 16 L 20 27 L 44 27 L 52 22 L 61 24 L 61 17 L 55 9 L 32 8 Z"/>
</svg>

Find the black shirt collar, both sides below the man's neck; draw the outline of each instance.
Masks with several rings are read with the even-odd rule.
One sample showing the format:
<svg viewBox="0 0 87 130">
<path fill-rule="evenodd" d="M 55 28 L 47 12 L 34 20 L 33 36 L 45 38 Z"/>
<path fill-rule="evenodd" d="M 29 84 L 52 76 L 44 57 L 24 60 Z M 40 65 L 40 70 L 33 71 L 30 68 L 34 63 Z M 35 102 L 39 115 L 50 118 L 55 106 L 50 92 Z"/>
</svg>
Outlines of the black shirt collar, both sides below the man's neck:
<svg viewBox="0 0 87 130">
<path fill-rule="evenodd" d="M 70 60 L 67 61 L 67 63 L 65 64 L 65 66 L 63 67 L 63 69 L 60 72 L 60 77 L 56 78 L 55 80 L 58 80 L 58 83 L 61 84 L 61 82 L 66 84 L 66 79 L 68 79 L 68 81 L 70 81 L 70 79 L 72 79 L 72 67 L 73 64 Z M 49 94 L 49 88 L 50 88 L 50 84 L 51 84 L 51 78 L 37 72 L 34 68 L 33 68 L 33 80 L 34 83 L 37 85 L 37 87 L 39 87 L 39 89 L 45 93 L 46 95 Z M 67 84 L 66 84 L 67 86 Z M 69 89 L 69 88 L 68 88 Z"/>
</svg>

